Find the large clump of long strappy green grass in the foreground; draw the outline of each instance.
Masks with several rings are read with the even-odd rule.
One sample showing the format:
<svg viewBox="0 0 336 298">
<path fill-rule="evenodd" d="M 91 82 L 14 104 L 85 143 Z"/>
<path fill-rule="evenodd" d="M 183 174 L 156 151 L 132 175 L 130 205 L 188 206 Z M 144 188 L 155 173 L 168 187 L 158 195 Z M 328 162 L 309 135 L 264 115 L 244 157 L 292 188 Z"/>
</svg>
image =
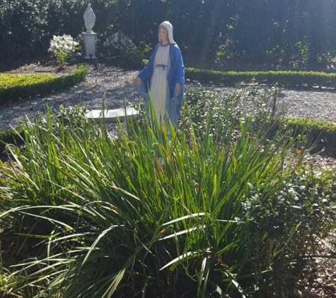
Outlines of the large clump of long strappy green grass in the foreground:
<svg viewBox="0 0 336 298">
<path fill-rule="evenodd" d="M 291 205 L 294 189 L 310 212 L 296 188 L 299 159 L 289 154 L 295 139 L 284 131 L 266 138 L 272 122 L 255 131 L 252 117 L 218 117 L 212 126 L 213 107 L 204 109 L 196 133 L 195 111 L 185 106 L 169 137 L 156 121 L 127 118 L 111 138 L 105 120 L 88 121 L 80 107 L 27 121 L 25 147 L 9 145 L 11 160 L 1 164 L 0 220 L 8 227 L 1 243 L 16 258 L 6 258 L 13 266 L 0 290 L 64 298 L 294 297 L 286 282 L 313 245 Z M 331 201 L 326 177 L 321 191 Z M 319 183 L 308 180 L 309 189 Z"/>
</svg>

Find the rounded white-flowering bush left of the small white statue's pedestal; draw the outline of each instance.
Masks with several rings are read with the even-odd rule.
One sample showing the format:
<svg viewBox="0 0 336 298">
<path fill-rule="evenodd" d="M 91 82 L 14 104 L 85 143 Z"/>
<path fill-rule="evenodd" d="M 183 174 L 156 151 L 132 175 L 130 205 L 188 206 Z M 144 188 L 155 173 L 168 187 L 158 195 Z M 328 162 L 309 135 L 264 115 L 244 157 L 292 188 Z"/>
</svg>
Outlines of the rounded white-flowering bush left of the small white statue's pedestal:
<svg viewBox="0 0 336 298">
<path fill-rule="evenodd" d="M 66 59 L 75 51 L 75 47 L 79 42 L 74 41 L 70 35 L 55 36 L 50 42 L 48 52 L 52 54 L 57 60 L 59 68 L 63 68 L 66 64 Z"/>
</svg>

